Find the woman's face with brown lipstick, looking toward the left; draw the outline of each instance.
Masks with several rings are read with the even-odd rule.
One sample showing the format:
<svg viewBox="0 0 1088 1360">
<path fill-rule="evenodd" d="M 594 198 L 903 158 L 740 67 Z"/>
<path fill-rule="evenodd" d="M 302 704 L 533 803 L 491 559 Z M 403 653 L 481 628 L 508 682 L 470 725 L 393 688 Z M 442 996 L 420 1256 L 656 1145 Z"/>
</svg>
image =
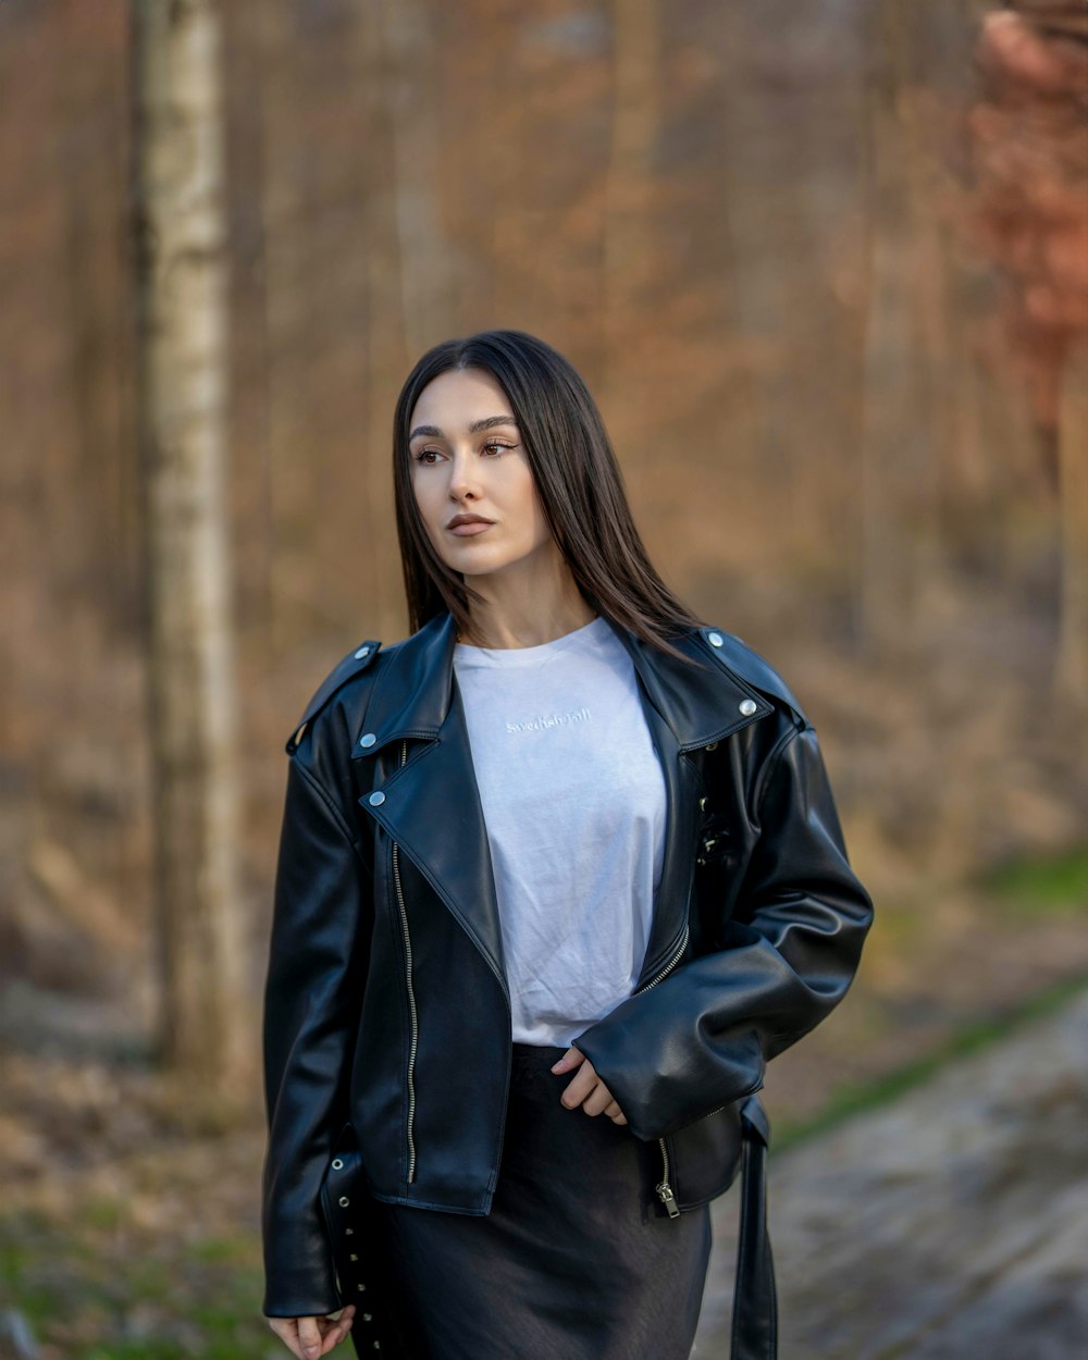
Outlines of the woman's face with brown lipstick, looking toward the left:
<svg viewBox="0 0 1088 1360">
<path fill-rule="evenodd" d="M 439 558 L 472 577 L 554 571 L 560 560 L 510 401 L 483 369 L 452 369 L 408 422 L 411 480 Z"/>
</svg>

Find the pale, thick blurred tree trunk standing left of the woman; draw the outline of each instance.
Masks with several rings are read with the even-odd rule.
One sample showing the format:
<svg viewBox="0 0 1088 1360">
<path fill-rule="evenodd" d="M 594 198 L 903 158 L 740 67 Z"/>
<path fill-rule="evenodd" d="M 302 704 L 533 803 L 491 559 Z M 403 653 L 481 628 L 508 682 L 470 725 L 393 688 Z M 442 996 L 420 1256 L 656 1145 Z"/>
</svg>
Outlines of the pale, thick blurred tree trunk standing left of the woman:
<svg viewBox="0 0 1088 1360">
<path fill-rule="evenodd" d="M 220 19 L 132 0 L 137 419 L 160 1053 L 226 1093 L 243 1053 L 226 503 Z"/>
</svg>

